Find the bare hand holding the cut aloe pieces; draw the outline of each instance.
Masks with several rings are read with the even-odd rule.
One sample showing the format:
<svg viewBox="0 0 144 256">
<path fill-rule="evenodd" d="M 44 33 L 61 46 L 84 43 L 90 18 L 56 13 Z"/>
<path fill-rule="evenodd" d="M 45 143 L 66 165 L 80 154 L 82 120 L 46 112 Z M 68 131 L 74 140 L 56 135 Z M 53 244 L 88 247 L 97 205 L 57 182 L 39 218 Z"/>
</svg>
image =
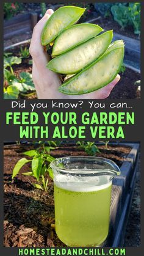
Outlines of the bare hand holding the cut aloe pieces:
<svg viewBox="0 0 144 256">
<path fill-rule="evenodd" d="M 46 21 L 52 15 L 53 10 L 46 11 L 43 18 L 38 21 L 34 27 L 32 34 L 31 45 L 29 48 L 32 56 L 32 78 L 34 80 L 35 89 L 39 99 L 104 99 L 107 98 L 117 82 L 120 80 L 120 76 L 110 82 L 102 89 L 95 92 L 87 93 L 84 95 L 65 95 L 59 92 L 58 88 L 61 84 L 60 76 L 57 73 L 46 68 L 46 64 L 50 60 L 50 56 L 44 51 L 41 45 L 41 32 L 45 26 Z"/>
</svg>

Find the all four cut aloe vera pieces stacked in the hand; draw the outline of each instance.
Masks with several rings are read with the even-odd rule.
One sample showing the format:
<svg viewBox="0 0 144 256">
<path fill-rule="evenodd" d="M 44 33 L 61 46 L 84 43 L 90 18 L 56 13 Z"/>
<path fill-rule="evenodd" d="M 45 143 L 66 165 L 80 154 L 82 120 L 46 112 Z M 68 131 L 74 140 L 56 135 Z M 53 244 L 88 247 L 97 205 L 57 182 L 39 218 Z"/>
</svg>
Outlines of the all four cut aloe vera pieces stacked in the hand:
<svg viewBox="0 0 144 256">
<path fill-rule="evenodd" d="M 123 40 L 112 43 L 113 32 L 96 24 L 75 24 L 85 9 L 60 7 L 43 27 L 41 44 L 52 45 L 49 70 L 65 75 L 59 91 L 81 95 L 107 86 L 120 71 Z"/>
</svg>

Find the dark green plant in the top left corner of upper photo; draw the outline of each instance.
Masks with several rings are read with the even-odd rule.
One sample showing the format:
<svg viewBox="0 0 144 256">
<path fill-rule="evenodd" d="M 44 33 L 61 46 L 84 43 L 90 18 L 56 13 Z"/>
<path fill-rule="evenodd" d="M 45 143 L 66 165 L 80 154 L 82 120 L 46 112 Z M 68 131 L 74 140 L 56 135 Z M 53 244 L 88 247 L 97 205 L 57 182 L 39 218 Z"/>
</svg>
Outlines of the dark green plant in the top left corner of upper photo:
<svg viewBox="0 0 144 256">
<path fill-rule="evenodd" d="M 5 2 L 4 3 L 4 18 L 9 20 L 20 8 L 19 2 Z"/>
</svg>

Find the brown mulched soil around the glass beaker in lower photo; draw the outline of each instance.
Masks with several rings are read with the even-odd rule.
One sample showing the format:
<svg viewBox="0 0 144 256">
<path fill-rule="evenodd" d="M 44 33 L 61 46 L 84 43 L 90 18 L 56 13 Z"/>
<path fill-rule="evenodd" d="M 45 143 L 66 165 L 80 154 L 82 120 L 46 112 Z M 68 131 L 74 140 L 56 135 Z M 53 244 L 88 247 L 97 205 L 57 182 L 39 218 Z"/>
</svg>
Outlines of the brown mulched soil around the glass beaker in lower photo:
<svg viewBox="0 0 144 256">
<path fill-rule="evenodd" d="M 12 170 L 23 152 L 34 145 L 7 145 L 4 147 L 4 246 L 5 247 L 65 247 L 54 230 L 53 182 L 49 178 L 48 192 L 35 189 L 33 177 L 22 175 L 30 165 L 23 167 L 12 181 Z M 115 161 L 120 167 L 130 152 L 130 147 L 119 145 L 98 146 L 103 156 Z M 51 151 L 54 157 L 87 155 L 73 144 L 60 145 Z M 131 224 L 129 224 L 131 225 Z M 138 225 L 138 222 L 137 222 Z M 137 225 L 135 229 L 137 229 Z M 140 233 L 139 230 L 137 233 Z M 129 233 L 131 236 L 131 233 Z"/>
</svg>

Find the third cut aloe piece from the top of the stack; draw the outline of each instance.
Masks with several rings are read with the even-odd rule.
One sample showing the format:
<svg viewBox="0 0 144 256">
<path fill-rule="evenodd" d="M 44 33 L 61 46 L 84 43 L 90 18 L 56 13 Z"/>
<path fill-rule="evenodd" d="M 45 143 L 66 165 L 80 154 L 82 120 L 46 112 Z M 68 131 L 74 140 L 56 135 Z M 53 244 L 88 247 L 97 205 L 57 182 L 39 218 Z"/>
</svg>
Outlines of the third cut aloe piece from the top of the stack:
<svg viewBox="0 0 144 256">
<path fill-rule="evenodd" d="M 107 31 L 52 59 L 46 67 L 60 74 L 76 74 L 98 59 L 110 45 L 113 32 Z"/>
</svg>

